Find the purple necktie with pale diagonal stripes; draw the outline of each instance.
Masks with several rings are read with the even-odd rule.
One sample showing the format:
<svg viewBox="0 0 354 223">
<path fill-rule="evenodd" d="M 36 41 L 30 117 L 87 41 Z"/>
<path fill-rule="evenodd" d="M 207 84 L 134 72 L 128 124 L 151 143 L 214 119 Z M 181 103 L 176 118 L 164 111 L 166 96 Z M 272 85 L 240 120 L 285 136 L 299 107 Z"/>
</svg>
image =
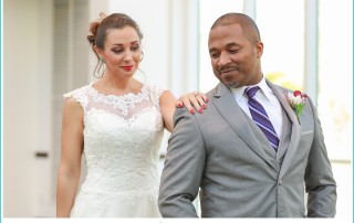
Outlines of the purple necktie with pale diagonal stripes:
<svg viewBox="0 0 354 223">
<path fill-rule="evenodd" d="M 253 96 L 256 95 L 258 89 L 259 89 L 259 86 L 247 87 L 244 89 L 244 93 L 247 94 L 247 96 L 249 98 L 248 107 L 250 108 L 250 113 L 251 113 L 251 116 L 252 116 L 254 123 L 263 131 L 263 134 L 266 135 L 266 137 L 270 141 L 270 145 L 277 151 L 278 145 L 279 145 L 279 138 L 277 136 L 275 129 L 274 129 L 272 123 L 270 121 L 263 106 L 253 98 Z"/>
</svg>

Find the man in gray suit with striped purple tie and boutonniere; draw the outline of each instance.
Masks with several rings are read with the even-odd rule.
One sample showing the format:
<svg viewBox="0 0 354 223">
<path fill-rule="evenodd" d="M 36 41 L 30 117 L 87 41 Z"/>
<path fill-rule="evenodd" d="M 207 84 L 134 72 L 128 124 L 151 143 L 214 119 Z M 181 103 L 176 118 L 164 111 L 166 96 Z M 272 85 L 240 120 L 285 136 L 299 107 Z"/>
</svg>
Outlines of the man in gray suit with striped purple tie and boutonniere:
<svg viewBox="0 0 354 223">
<path fill-rule="evenodd" d="M 202 217 L 333 217 L 336 184 L 315 107 L 304 97 L 298 119 L 289 91 L 263 77 L 253 20 L 220 17 L 208 45 L 220 83 L 207 94 L 204 115 L 176 110 L 162 215 L 198 216 L 199 192 Z"/>
</svg>

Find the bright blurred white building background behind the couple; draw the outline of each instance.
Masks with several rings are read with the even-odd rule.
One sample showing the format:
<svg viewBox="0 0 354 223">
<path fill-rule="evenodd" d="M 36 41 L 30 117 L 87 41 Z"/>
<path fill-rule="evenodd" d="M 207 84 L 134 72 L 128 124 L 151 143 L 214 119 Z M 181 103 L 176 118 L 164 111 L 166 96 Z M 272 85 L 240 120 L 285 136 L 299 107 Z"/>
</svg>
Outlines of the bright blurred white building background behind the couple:
<svg viewBox="0 0 354 223">
<path fill-rule="evenodd" d="M 352 0 L 4 0 L 2 10 L 4 217 L 55 215 L 62 94 L 94 81 L 86 35 L 100 12 L 138 22 L 145 54 L 138 77 L 178 97 L 216 85 L 208 32 L 236 11 L 258 23 L 266 76 L 316 103 L 337 181 L 336 220 L 352 222 Z"/>
</svg>

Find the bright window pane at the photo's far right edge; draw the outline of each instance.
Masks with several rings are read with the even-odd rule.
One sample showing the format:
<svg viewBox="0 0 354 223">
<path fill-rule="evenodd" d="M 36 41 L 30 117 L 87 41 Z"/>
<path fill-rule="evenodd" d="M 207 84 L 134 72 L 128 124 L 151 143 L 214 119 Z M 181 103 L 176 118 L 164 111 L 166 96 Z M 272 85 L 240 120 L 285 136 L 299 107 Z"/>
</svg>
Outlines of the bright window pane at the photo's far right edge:
<svg viewBox="0 0 354 223">
<path fill-rule="evenodd" d="M 331 159 L 352 158 L 352 1 L 319 4 L 319 115 Z"/>
</svg>

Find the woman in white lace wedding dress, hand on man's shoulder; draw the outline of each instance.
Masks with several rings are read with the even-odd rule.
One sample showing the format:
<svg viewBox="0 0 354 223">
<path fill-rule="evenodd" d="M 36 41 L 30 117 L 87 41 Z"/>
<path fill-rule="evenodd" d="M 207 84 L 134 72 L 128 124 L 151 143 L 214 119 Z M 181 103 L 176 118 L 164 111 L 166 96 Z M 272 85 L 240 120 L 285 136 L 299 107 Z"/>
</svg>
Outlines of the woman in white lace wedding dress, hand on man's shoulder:
<svg viewBox="0 0 354 223">
<path fill-rule="evenodd" d="M 132 18 L 113 13 L 90 31 L 102 75 L 64 94 L 56 216 L 159 217 L 159 146 L 164 128 L 173 130 L 176 99 L 133 77 L 143 34 Z M 191 113 L 190 102 L 201 112 L 207 100 L 192 93 L 183 98 Z M 87 174 L 76 193 L 83 153 Z"/>
</svg>

